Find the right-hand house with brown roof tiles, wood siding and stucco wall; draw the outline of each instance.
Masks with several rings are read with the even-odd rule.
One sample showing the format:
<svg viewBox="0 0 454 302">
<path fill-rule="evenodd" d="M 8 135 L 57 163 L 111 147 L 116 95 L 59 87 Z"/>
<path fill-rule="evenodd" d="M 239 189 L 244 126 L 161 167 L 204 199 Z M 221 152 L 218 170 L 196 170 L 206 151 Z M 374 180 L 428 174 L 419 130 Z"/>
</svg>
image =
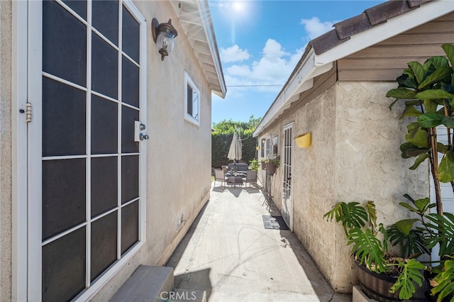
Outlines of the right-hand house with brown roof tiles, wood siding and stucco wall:
<svg viewBox="0 0 454 302">
<path fill-rule="evenodd" d="M 400 155 L 408 120 L 385 94 L 408 62 L 454 43 L 454 2 L 388 1 L 334 28 L 311 40 L 253 135 L 260 157 L 280 156 L 272 179 L 260 177 L 282 216 L 333 289 L 349 292 L 351 247 L 323 213 L 337 201 L 373 200 L 389 225 L 404 215 L 403 194 L 429 195 L 428 169 L 411 171 Z M 311 146 L 297 147 L 307 132 Z"/>
</svg>

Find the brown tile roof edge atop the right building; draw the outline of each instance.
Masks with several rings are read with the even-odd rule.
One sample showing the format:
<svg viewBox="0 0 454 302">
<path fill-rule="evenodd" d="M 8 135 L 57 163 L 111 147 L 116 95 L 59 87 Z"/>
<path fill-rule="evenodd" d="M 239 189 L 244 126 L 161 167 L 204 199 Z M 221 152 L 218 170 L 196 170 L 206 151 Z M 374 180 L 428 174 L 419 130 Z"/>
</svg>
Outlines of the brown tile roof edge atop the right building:
<svg viewBox="0 0 454 302">
<path fill-rule="evenodd" d="M 321 55 L 350 39 L 351 35 L 361 33 L 386 22 L 390 18 L 418 9 L 421 4 L 431 0 L 389 0 L 366 9 L 363 13 L 334 24 L 334 29 L 311 40 L 310 45 L 316 55 Z"/>
</svg>

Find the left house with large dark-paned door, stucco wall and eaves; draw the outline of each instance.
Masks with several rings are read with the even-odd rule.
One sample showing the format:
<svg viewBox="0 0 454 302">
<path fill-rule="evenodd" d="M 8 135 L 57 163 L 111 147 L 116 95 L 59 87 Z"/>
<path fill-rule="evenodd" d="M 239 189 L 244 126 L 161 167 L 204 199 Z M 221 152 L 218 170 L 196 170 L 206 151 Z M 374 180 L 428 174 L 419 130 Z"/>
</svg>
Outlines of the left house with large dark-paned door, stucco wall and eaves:
<svg viewBox="0 0 454 302">
<path fill-rule="evenodd" d="M 208 2 L 0 14 L 0 300 L 106 301 L 165 264 L 209 199 L 211 93 L 226 85 Z M 164 61 L 153 18 L 178 31 Z"/>
</svg>

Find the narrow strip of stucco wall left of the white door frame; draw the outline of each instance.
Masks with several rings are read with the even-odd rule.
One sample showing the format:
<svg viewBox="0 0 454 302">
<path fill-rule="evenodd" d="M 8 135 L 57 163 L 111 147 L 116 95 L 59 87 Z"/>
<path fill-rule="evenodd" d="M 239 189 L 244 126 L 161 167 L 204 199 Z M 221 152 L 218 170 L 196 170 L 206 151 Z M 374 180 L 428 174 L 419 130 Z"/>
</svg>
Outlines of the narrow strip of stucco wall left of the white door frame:
<svg viewBox="0 0 454 302">
<path fill-rule="evenodd" d="M 11 1 L 0 1 L 0 301 L 11 301 Z"/>
</svg>

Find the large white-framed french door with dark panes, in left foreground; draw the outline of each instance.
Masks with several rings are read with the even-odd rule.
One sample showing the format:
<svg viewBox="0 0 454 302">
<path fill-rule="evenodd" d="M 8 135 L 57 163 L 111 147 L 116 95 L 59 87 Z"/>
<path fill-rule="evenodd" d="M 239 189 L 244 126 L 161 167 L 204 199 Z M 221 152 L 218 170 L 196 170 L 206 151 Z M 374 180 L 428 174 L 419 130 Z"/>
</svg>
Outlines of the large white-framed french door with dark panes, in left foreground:
<svg viewBox="0 0 454 302">
<path fill-rule="evenodd" d="M 145 20 L 28 2 L 28 300 L 87 299 L 143 243 Z"/>
</svg>

